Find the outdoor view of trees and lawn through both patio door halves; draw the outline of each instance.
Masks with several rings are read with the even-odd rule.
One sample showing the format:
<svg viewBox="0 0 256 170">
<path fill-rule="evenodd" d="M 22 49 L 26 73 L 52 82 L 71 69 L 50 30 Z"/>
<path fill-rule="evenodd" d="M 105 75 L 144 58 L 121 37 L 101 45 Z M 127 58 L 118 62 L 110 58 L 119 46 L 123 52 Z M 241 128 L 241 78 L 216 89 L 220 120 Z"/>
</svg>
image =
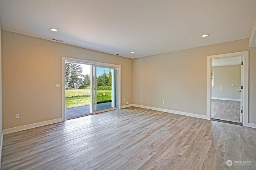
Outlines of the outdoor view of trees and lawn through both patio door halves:
<svg viewBox="0 0 256 170">
<path fill-rule="evenodd" d="M 84 70 L 83 70 L 84 66 Z M 84 72 L 83 72 L 84 71 Z M 65 107 L 90 105 L 90 67 L 77 63 L 65 63 Z M 112 101 L 112 69 L 97 69 L 97 103 Z"/>
</svg>

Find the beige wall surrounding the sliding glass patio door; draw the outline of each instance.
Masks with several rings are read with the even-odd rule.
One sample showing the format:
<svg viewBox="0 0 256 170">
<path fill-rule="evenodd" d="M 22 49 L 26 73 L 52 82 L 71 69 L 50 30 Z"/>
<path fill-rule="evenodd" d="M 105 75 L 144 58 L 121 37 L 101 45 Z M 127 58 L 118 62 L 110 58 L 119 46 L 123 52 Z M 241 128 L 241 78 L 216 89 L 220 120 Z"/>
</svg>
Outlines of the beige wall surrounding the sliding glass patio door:
<svg viewBox="0 0 256 170">
<path fill-rule="evenodd" d="M 62 117 L 62 57 L 122 65 L 122 105 L 133 103 L 132 59 L 7 31 L 2 41 L 3 129 Z"/>
</svg>

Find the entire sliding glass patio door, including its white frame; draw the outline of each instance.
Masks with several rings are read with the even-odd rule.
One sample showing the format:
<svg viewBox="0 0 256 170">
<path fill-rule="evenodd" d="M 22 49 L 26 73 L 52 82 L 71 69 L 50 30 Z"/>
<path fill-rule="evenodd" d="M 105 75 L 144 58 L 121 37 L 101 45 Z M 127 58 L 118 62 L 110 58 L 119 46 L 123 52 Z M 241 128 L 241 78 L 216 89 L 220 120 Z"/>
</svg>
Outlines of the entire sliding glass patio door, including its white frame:
<svg viewBox="0 0 256 170">
<path fill-rule="evenodd" d="M 62 57 L 62 121 L 121 107 L 121 66 Z"/>
</svg>

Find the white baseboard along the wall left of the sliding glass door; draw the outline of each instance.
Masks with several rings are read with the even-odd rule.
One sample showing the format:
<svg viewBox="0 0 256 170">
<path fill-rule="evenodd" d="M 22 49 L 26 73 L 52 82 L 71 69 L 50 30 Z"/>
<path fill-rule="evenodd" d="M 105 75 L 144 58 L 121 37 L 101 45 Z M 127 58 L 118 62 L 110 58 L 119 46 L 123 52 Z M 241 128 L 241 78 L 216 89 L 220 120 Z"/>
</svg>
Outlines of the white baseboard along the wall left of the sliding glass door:
<svg viewBox="0 0 256 170">
<path fill-rule="evenodd" d="M 30 129 L 30 128 L 42 127 L 42 126 L 45 126 L 45 125 L 50 125 L 50 124 L 59 123 L 59 122 L 62 122 L 62 118 L 53 119 L 53 120 L 50 120 L 50 121 L 33 123 L 33 124 L 30 124 L 30 125 L 24 125 L 24 126 L 20 126 L 20 127 L 4 129 L 2 134 L 9 134 L 9 133 L 18 132 L 18 131 L 21 131 L 21 130 L 27 130 L 27 129 Z"/>
</svg>

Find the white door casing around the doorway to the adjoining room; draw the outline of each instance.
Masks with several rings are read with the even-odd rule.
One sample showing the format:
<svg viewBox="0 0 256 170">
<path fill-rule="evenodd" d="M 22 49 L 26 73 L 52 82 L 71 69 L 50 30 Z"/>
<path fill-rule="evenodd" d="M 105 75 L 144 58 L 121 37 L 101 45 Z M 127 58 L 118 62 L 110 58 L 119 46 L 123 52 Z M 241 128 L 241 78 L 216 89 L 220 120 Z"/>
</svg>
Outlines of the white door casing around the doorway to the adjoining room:
<svg viewBox="0 0 256 170">
<path fill-rule="evenodd" d="M 241 51 L 235 53 L 226 53 L 207 56 L 207 119 L 211 120 L 212 116 L 212 59 L 242 56 L 244 61 L 244 93 L 243 93 L 243 126 L 248 127 L 248 87 L 249 87 L 249 51 Z"/>
</svg>

